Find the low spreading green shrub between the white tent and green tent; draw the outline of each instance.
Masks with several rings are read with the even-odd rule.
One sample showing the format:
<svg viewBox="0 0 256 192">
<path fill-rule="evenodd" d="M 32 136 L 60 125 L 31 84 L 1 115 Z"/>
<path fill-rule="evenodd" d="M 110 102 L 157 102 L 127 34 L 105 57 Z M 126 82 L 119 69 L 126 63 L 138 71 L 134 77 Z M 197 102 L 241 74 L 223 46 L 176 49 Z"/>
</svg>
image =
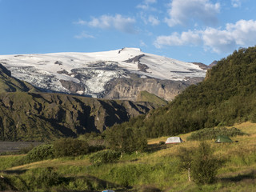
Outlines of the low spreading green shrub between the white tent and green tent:
<svg viewBox="0 0 256 192">
<path fill-rule="evenodd" d="M 187 138 L 187 141 L 203 141 L 216 139 L 218 135 L 226 135 L 228 137 L 234 137 L 236 135 L 244 135 L 241 130 L 238 130 L 235 127 L 227 129 L 226 127 L 218 128 L 205 128 L 202 130 L 197 130 Z"/>
</svg>

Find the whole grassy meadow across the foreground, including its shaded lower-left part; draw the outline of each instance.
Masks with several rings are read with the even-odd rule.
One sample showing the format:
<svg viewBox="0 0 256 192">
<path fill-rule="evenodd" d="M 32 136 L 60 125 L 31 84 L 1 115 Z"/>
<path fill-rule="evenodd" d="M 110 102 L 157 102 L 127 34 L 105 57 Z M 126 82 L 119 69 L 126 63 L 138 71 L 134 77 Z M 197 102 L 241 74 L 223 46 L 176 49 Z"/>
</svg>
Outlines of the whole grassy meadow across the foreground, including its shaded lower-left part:
<svg viewBox="0 0 256 192">
<path fill-rule="evenodd" d="M 178 166 L 179 149 L 199 144 L 186 141 L 191 133 L 179 135 L 186 141 L 180 144 L 159 144 L 167 137 L 149 139 L 147 152 L 124 154 L 118 162 L 99 165 L 90 162 L 92 154 L 22 166 L 14 165 L 24 154 L 2 155 L 0 174 L 19 191 L 256 191 L 256 124 L 245 122 L 234 126 L 246 133 L 231 138 L 238 142 L 207 141 L 215 156 L 226 159 L 218 170 L 217 182 L 210 185 L 198 186 L 193 178 L 189 182 L 187 171 Z M 2 189 L 13 190 L 2 183 L 0 180 Z"/>
</svg>

